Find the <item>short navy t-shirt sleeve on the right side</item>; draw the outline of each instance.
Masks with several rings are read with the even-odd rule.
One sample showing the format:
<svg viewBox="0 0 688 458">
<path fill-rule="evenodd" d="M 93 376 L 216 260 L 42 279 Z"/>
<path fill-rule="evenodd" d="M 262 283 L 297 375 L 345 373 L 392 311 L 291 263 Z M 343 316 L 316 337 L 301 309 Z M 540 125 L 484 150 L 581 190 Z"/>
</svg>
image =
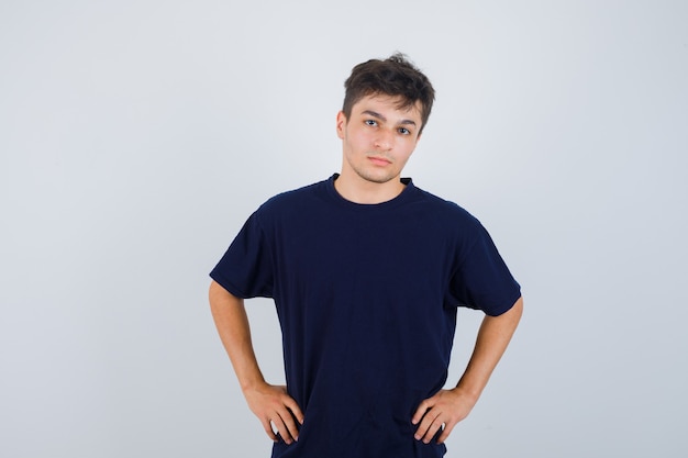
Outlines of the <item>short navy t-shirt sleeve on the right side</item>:
<svg viewBox="0 0 688 458">
<path fill-rule="evenodd" d="M 521 297 L 521 287 L 479 223 L 475 241 L 459 258 L 452 292 L 459 306 L 481 310 L 491 316 L 507 312 Z"/>
</svg>

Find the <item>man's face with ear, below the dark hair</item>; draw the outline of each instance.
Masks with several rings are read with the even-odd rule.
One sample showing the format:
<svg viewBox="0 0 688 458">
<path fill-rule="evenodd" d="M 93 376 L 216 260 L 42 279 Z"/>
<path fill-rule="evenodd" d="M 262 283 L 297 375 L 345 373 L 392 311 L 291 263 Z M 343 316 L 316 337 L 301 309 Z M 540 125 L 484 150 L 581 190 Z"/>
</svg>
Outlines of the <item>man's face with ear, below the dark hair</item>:
<svg viewBox="0 0 688 458">
<path fill-rule="evenodd" d="M 398 105 L 398 97 L 368 96 L 354 104 L 348 120 L 343 112 L 337 114 L 336 131 L 344 153 L 342 177 L 398 185 L 421 129 L 420 104 L 408 110 Z"/>
</svg>

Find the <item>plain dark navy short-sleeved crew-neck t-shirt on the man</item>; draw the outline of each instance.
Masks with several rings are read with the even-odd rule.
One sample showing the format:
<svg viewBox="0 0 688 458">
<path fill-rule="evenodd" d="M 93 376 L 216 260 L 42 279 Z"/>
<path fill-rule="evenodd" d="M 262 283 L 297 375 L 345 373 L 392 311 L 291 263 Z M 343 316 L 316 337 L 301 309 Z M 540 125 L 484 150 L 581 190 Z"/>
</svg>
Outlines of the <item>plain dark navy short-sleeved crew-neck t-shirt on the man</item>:
<svg viewBox="0 0 688 458">
<path fill-rule="evenodd" d="M 238 298 L 275 301 L 304 423 L 273 457 L 442 457 L 411 417 L 444 387 L 456 308 L 499 315 L 520 287 L 458 205 L 410 179 L 391 201 L 357 204 L 336 177 L 264 203 L 211 272 Z"/>
</svg>

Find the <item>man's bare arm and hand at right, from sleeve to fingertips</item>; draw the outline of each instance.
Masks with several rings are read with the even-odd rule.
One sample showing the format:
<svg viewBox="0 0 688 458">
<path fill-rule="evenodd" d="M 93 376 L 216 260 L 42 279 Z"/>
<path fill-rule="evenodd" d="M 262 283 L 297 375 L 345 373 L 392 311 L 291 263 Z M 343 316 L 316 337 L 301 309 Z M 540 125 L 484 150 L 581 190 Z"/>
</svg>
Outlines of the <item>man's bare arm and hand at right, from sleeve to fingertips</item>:
<svg viewBox="0 0 688 458">
<path fill-rule="evenodd" d="M 522 313 L 523 299 L 519 298 L 506 313 L 499 316 L 486 316 L 482 320 L 473 355 L 456 388 L 440 390 L 432 398 L 421 402 L 411 418 L 414 425 L 419 425 L 415 432 L 418 440 L 430 443 L 444 425 L 444 431 L 437 437 L 437 443 L 442 444 L 454 426 L 468 416 L 487 386 L 497 362 L 504 354 Z"/>
</svg>

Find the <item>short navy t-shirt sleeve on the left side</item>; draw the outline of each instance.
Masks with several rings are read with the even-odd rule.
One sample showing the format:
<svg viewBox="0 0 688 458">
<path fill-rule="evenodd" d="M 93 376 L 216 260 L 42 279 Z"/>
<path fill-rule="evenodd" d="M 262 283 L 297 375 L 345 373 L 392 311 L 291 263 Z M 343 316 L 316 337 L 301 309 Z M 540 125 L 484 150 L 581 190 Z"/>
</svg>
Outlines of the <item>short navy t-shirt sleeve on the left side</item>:
<svg viewBox="0 0 688 458">
<path fill-rule="evenodd" d="M 273 260 L 258 212 L 246 221 L 210 277 L 237 298 L 273 297 Z"/>
</svg>

